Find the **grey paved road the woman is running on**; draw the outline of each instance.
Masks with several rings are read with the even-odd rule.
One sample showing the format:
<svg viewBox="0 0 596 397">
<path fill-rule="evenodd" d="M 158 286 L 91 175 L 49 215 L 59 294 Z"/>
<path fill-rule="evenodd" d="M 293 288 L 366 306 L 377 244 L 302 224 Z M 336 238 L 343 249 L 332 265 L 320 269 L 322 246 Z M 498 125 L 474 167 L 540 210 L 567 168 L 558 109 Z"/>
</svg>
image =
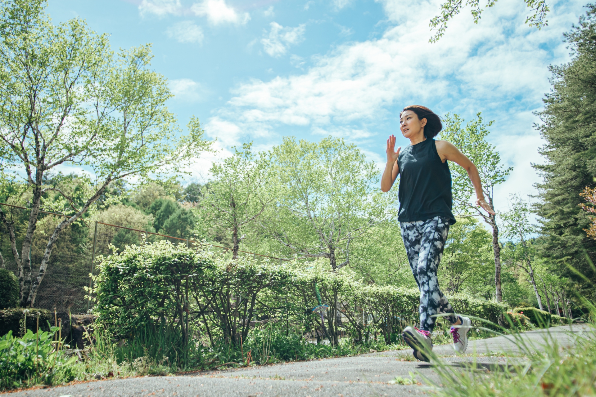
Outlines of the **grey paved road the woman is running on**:
<svg viewBox="0 0 596 397">
<path fill-rule="evenodd" d="M 540 348 L 557 339 L 560 345 L 573 340 L 573 334 L 586 332 L 585 326 L 555 327 L 523 334 L 524 341 Z M 514 343 L 505 337 L 470 341 L 468 353 L 490 354 L 516 352 Z M 451 345 L 435 346 L 442 360 L 457 364 L 470 360 L 455 357 Z M 203 371 L 195 374 L 163 377 L 138 377 L 102 380 L 79 385 L 53 387 L 11 393 L 11 397 L 365 397 L 411 396 L 428 392 L 427 386 L 390 385 L 396 376 L 437 379 L 433 365 L 411 360 L 411 350 L 364 354 L 355 357 L 316 361 L 290 362 L 224 371 Z M 504 362 L 504 358 L 477 359 L 485 364 Z"/>
</svg>

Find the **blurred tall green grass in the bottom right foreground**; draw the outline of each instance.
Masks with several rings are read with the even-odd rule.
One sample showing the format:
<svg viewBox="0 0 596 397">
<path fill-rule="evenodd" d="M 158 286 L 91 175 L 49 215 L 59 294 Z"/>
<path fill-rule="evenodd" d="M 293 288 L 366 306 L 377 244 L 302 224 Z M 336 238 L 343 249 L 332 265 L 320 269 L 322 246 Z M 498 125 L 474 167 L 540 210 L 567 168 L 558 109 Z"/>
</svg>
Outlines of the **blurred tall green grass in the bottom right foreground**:
<svg viewBox="0 0 596 397">
<path fill-rule="evenodd" d="M 596 313 L 594 305 L 585 302 Z M 557 338 L 563 331 L 570 342 Z M 512 327 L 503 335 L 510 338 L 517 352 L 505 353 L 507 365 L 492 370 L 479 369 L 474 362 L 454 367 L 441 360 L 436 362 L 440 381 L 434 383 L 439 396 L 594 396 L 596 395 L 596 335 L 594 322 L 586 329 L 573 333 L 570 326 L 561 326 L 557 333 L 544 331 L 540 343 L 530 343 Z M 578 329 L 576 329 L 576 332 Z M 430 383 L 432 381 L 429 380 Z"/>
</svg>

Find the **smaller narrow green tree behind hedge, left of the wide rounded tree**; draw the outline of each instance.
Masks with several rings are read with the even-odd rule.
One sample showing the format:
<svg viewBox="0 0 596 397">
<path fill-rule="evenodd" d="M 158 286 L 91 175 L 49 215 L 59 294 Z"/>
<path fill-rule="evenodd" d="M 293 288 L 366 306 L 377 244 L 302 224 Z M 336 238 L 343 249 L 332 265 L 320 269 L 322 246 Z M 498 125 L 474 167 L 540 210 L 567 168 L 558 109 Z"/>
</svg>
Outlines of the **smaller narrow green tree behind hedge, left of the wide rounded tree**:
<svg viewBox="0 0 596 397">
<path fill-rule="evenodd" d="M 265 190 L 269 161 L 265 154 L 254 155 L 252 142 L 222 162 L 213 162 L 209 188 L 204 189 L 195 211 L 231 234 L 232 257 L 238 257 L 240 243 L 246 238 L 243 229 L 265 211 L 271 198 Z M 201 232 L 201 231 L 198 231 Z"/>
</svg>

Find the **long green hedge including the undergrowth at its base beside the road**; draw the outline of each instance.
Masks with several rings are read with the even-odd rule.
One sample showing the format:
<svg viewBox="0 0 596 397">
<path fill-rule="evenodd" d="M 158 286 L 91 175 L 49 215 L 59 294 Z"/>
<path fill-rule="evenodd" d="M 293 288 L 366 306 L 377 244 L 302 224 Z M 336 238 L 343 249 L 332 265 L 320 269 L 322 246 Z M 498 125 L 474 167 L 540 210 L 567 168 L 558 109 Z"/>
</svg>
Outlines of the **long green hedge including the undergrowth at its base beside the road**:
<svg viewBox="0 0 596 397">
<path fill-rule="evenodd" d="M 247 362 L 247 349 L 253 362 L 354 354 L 403 344 L 403 327 L 418 322 L 417 289 L 366 285 L 347 271 L 328 270 L 324 261 L 305 268 L 303 262 L 230 260 L 165 241 L 100 260 L 94 310 L 119 363 L 145 357 L 190 370 Z M 505 310 L 467 295 L 449 299 L 456 312 L 493 323 Z M 330 346 L 307 337 L 328 339 Z"/>
</svg>

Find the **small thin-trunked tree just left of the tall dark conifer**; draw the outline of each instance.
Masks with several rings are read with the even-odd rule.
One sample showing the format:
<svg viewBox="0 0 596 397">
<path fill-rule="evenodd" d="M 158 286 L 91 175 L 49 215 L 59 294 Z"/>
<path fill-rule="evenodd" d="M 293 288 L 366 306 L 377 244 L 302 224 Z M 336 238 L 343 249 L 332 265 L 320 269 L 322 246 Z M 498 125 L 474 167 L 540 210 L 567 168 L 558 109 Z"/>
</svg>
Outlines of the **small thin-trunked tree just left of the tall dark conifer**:
<svg viewBox="0 0 596 397">
<path fill-rule="evenodd" d="M 532 265 L 535 256 L 532 235 L 536 233 L 536 228 L 530 223 L 530 205 L 520 195 L 511 195 L 510 204 L 511 209 L 502 215 L 505 223 L 503 235 L 515 241 L 515 243 L 507 245 L 508 251 L 510 251 L 508 257 L 530 277 L 538 307 L 540 310 L 544 310 Z"/>
</svg>

